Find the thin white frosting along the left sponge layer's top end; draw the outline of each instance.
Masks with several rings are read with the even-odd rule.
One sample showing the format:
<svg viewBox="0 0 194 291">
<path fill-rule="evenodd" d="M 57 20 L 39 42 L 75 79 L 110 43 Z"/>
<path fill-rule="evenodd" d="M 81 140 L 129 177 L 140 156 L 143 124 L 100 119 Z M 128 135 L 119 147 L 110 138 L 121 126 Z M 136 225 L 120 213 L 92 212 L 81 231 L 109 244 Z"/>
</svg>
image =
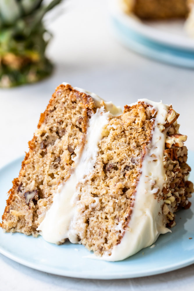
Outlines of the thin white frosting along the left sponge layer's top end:
<svg viewBox="0 0 194 291">
<path fill-rule="evenodd" d="M 63 85 L 69 85 L 69 83 L 63 82 Z M 91 93 L 89 91 L 86 91 L 82 88 L 78 88 L 78 87 L 73 87 L 74 90 L 77 90 L 81 93 L 85 93 L 90 95 L 90 97 L 93 98 L 96 106 L 100 107 L 101 102 L 103 101 L 106 105 L 106 110 L 110 111 L 111 114 L 113 114 L 114 116 L 118 116 L 120 114 L 122 114 L 122 109 L 120 106 L 115 106 L 112 102 L 106 102 L 104 99 L 100 98 L 98 95 L 96 95 L 95 93 Z"/>
</svg>

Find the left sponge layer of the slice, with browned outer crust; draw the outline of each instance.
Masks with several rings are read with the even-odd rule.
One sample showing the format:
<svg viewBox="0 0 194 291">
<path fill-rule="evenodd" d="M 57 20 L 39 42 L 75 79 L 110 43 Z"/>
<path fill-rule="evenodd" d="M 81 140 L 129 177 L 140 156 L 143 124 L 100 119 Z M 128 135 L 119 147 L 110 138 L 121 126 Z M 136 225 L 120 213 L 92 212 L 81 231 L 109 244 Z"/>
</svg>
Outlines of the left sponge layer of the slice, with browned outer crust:
<svg viewBox="0 0 194 291">
<path fill-rule="evenodd" d="M 37 235 L 36 228 L 58 185 L 70 177 L 78 149 L 85 142 L 88 117 L 97 107 L 90 95 L 69 84 L 56 88 L 29 142 L 19 177 L 8 192 L 1 224 L 4 230 Z"/>
</svg>

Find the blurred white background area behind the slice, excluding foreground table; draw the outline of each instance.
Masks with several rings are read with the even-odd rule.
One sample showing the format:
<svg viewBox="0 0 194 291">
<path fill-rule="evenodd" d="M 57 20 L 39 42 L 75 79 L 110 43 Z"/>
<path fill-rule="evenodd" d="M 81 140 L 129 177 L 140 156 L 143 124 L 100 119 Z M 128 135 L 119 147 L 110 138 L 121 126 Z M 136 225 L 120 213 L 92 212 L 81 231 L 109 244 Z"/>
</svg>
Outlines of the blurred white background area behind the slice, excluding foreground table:
<svg viewBox="0 0 194 291">
<path fill-rule="evenodd" d="M 194 72 L 145 58 L 115 38 L 110 8 L 103 0 L 64 0 L 45 17 L 53 34 L 47 48 L 53 74 L 31 85 L 0 89 L 0 166 L 24 155 L 56 86 L 63 81 L 124 106 L 147 98 L 173 104 L 180 132 L 194 150 Z"/>
</svg>

